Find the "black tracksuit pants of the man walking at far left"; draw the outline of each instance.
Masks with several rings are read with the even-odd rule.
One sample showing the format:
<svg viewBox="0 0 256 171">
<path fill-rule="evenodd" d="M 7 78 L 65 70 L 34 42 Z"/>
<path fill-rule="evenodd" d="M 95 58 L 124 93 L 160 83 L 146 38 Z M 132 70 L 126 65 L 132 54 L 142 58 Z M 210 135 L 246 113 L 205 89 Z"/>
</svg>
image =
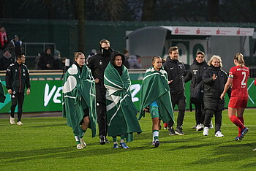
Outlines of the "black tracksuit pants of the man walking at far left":
<svg viewBox="0 0 256 171">
<path fill-rule="evenodd" d="M 17 106 L 17 103 L 18 103 L 18 120 L 17 120 L 17 122 L 21 120 L 24 97 L 25 97 L 24 93 L 15 93 L 15 94 L 11 95 L 11 99 L 12 99 L 11 117 L 12 118 L 14 118 L 15 107 Z"/>
</svg>

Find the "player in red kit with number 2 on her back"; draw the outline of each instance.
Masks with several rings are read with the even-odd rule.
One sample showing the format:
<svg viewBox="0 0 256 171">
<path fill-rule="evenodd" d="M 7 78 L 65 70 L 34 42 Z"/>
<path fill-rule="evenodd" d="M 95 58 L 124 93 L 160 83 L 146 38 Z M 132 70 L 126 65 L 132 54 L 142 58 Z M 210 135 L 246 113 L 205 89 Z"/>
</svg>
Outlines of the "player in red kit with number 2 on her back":
<svg viewBox="0 0 256 171">
<path fill-rule="evenodd" d="M 220 98 L 223 99 L 227 89 L 231 86 L 232 92 L 228 104 L 228 117 L 230 121 L 238 126 L 238 137 L 235 140 L 243 140 L 244 135 L 249 132 L 249 129 L 244 126 L 243 116 L 248 101 L 247 79 L 249 77 L 249 68 L 245 66 L 244 56 L 241 53 L 236 53 L 234 64 L 236 66 L 230 69 L 227 83 Z"/>
</svg>

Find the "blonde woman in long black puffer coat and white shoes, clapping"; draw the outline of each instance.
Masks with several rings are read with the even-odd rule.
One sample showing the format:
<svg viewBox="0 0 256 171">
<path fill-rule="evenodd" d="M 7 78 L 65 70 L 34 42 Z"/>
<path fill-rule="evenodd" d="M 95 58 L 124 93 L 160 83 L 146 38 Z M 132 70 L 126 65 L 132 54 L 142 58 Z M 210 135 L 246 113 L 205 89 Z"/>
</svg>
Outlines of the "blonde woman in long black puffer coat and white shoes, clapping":
<svg viewBox="0 0 256 171">
<path fill-rule="evenodd" d="M 225 100 L 220 99 L 225 83 L 227 82 L 227 73 L 221 69 L 222 59 L 219 56 L 212 56 L 208 61 L 208 69 L 203 73 L 203 104 L 206 109 L 204 119 L 203 135 L 208 135 L 211 118 L 215 116 L 215 137 L 223 137 L 221 132 L 222 110 L 225 109 Z M 230 91 L 229 91 L 230 93 Z"/>
</svg>

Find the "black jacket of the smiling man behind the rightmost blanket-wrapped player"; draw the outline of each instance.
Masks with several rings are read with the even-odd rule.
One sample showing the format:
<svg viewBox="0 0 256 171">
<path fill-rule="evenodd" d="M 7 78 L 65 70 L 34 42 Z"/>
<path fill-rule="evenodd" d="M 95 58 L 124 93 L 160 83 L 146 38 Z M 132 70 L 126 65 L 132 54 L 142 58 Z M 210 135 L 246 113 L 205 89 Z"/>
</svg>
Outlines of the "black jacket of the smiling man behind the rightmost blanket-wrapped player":
<svg viewBox="0 0 256 171">
<path fill-rule="evenodd" d="M 169 84 L 170 94 L 181 94 L 184 92 L 184 75 L 186 69 L 183 62 L 170 59 L 170 56 L 168 56 L 164 64 L 164 69 L 167 72 L 168 80 L 173 80 Z"/>
</svg>

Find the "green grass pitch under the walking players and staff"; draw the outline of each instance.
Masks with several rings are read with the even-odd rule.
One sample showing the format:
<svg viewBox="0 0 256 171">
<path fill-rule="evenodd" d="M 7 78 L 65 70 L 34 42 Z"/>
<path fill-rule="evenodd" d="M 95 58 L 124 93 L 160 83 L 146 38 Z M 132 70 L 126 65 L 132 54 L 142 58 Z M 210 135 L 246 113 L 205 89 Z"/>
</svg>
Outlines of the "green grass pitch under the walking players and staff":
<svg viewBox="0 0 256 171">
<path fill-rule="evenodd" d="M 161 145 L 151 145 L 151 118 L 142 118 L 141 134 L 135 134 L 129 149 L 113 149 L 99 145 L 99 138 L 86 132 L 87 147 L 78 150 L 66 118 L 23 118 L 23 126 L 10 125 L 0 119 L 0 170 L 256 170 L 256 110 L 246 109 L 245 125 L 249 132 L 242 141 L 235 141 L 237 128 L 223 112 L 222 134 L 214 137 L 191 129 L 194 111 L 186 112 L 184 136 L 169 136 L 160 130 Z M 16 114 L 15 114 L 16 117 Z M 175 118 L 177 112 L 175 113 Z M 15 118 L 16 119 L 16 118 Z M 214 123 L 214 118 L 213 118 Z M 163 127 L 163 125 L 162 125 Z M 119 141 L 119 138 L 118 138 Z"/>
</svg>

